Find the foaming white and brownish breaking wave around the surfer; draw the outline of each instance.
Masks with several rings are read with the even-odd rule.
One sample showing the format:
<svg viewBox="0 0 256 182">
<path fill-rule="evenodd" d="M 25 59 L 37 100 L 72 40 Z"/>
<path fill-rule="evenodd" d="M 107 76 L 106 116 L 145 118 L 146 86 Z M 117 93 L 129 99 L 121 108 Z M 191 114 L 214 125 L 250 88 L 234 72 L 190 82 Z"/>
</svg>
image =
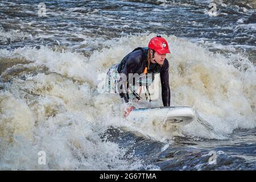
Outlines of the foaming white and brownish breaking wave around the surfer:
<svg viewBox="0 0 256 182">
<path fill-rule="evenodd" d="M 167 55 L 171 105 L 192 106 L 218 137 L 200 122 L 166 129 L 135 126 L 122 119 L 118 94 L 100 94 L 98 75 L 122 60 L 134 45 L 146 47 L 152 36 L 155 34 L 104 40 L 102 49 L 87 57 L 68 49 L 53 51 L 43 46 L 1 49 L 2 58 L 28 62 L 14 65 L 1 75 L 1 168 L 155 169 L 145 166 L 133 154 L 127 159 L 125 148 L 102 141 L 101 134 L 116 127 L 166 142 L 177 136 L 220 139 L 234 129 L 256 126 L 255 65 L 244 57 L 246 69 L 240 69 L 242 65 L 235 64 L 235 52 L 227 58 L 166 35 L 163 37 L 171 49 Z M 160 106 L 162 100 L 146 105 Z M 39 151 L 46 151 L 47 166 L 38 166 Z"/>
</svg>

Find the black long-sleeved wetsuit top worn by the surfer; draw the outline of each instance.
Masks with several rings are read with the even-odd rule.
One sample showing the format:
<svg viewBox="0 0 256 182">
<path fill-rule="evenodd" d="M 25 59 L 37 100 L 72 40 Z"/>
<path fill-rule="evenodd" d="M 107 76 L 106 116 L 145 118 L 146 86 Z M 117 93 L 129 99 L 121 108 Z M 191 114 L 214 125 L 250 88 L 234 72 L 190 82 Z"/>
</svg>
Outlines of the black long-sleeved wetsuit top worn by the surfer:
<svg viewBox="0 0 256 182">
<path fill-rule="evenodd" d="M 148 48 L 138 47 L 134 51 L 126 55 L 121 63 L 118 65 L 118 73 L 124 73 L 127 80 L 120 80 L 118 82 L 118 88 L 126 89 L 126 92 L 121 92 L 119 94 L 125 102 L 129 102 L 129 95 L 127 94 L 127 82 L 129 81 L 129 73 L 138 73 L 139 75 L 143 73 L 145 67 L 147 67 L 147 51 Z M 160 73 L 160 81 L 162 85 L 162 101 L 164 106 L 170 106 L 170 85 L 169 85 L 169 63 L 167 59 L 164 59 L 162 67 L 157 63 L 150 63 L 150 67 L 147 73 Z"/>
</svg>

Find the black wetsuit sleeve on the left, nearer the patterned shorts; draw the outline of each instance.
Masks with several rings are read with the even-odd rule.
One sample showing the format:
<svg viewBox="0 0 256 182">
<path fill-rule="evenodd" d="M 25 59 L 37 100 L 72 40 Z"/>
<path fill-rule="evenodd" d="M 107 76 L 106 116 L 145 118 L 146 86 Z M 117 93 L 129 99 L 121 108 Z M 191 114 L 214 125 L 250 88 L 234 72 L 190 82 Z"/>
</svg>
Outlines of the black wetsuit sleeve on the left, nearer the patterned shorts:
<svg viewBox="0 0 256 182">
<path fill-rule="evenodd" d="M 125 102 L 129 102 L 129 95 L 127 92 L 127 82 L 131 77 L 131 75 L 129 77 L 129 73 L 135 73 L 135 71 L 138 69 L 138 65 L 141 59 L 143 59 L 142 56 L 143 55 L 141 51 L 137 51 L 129 55 L 126 58 L 126 63 L 122 69 L 122 72 L 119 73 L 121 78 L 118 82 L 118 92 L 120 97 L 123 98 Z"/>
</svg>

